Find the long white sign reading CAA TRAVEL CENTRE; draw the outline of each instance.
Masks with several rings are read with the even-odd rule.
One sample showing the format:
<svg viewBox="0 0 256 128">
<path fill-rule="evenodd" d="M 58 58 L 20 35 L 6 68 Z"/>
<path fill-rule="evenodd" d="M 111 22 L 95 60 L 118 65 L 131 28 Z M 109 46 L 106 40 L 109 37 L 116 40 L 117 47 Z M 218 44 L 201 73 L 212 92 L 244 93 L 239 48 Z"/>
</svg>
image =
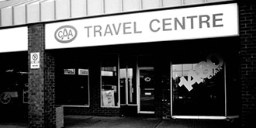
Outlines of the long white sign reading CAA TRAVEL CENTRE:
<svg viewBox="0 0 256 128">
<path fill-rule="evenodd" d="M 164 9 L 46 24 L 46 48 L 238 35 L 237 4 Z"/>
</svg>

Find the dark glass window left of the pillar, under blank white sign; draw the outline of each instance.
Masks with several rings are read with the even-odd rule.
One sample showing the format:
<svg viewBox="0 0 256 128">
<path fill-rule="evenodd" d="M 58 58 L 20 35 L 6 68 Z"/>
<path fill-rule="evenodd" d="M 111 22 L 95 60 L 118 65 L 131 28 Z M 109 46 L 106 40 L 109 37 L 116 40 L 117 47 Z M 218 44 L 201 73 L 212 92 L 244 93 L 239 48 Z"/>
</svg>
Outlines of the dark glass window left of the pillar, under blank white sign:
<svg viewBox="0 0 256 128">
<path fill-rule="evenodd" d="M 14 59 L 15 58 L 15 59 Z M 0 107 L 28 103 L 27 52 L 1 53 L 0 59 Z"/>
</svg>

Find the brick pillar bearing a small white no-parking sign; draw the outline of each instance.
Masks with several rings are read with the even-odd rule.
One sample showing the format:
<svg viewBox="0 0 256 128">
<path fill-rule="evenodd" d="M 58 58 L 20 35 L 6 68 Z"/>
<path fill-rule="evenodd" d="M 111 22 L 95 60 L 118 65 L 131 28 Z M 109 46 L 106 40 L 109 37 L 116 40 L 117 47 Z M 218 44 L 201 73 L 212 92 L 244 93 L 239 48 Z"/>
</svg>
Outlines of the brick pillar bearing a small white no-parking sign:
<svg viewBox="0 0 256 128">
<path fill-rule="evenodd" d="M 45 51 L 44 25 L 28 26 L 29 33 L 29 127 L 55 126 L 54 57 Z M 30 68 L 30 53 L 40 53 L 40 68 Z"/>
</svg>

